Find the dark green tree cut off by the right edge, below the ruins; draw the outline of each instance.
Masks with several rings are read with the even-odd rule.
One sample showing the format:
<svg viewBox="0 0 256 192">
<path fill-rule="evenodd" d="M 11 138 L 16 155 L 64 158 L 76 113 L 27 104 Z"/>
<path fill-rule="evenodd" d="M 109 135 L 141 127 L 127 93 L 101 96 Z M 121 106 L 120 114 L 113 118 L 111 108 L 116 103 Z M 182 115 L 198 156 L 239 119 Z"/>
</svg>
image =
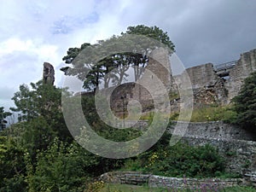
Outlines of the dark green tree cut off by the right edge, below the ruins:
<svg viewBox="0 0 256 192">
<path fill-rule="evenodd" d="M 236 123 L 255 131 L 256 128 L 256 72 L 251 73 L 238 95 L 232 99 L 237 113 Z"/>
</svg>

